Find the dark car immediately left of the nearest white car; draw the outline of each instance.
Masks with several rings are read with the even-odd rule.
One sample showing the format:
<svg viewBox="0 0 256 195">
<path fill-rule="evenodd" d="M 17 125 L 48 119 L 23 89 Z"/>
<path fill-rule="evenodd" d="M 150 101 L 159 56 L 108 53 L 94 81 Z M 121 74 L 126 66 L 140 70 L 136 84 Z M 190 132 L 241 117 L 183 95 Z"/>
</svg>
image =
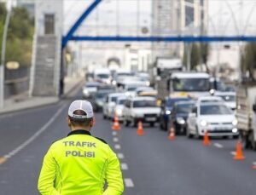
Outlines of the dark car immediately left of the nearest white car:
<svg viewBox="0 0 256 195">
<path fill-rule="evenodd" d="M 177 101 L 171 114 L 171 125 L 175 129 L 177 135 L 186 135 L 187 118 L 195 106 L 194 101 Z"/>
</svg>

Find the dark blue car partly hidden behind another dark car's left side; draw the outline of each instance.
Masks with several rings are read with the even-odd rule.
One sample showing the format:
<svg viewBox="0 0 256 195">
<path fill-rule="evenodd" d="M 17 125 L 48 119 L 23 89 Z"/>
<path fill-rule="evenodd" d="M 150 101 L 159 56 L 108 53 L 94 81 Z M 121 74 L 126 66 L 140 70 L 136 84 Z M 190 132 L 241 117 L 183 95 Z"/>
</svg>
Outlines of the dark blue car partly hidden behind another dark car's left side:
<svg viewBox="0 0 256 195">
<path fill-rule="evenodd" d="M 178 97 L 178 98 L 166 98 L 161 103 L 161 112 L 160 112 L 160 129 L 168 130 L 170 125 L 170 115 L 172 113 L 172 107 L 177 101 L 188 101 L 191 100 L 187 97 Z"/>
</svg>

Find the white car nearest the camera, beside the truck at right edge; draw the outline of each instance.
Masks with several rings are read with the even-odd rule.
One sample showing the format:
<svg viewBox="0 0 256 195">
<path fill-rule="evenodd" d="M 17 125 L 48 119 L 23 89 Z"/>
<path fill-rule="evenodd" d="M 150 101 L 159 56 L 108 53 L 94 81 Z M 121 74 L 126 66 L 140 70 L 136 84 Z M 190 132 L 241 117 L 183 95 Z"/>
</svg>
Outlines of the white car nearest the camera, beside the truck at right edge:
<svg viewBox="0 0 256 195">
<path fill-rule="evenodd" d="M 196 104 L 187 119 L 187 135 L 238 137 L 237 120 L 230 107 L 223 102 L 206 102 Z"/>
</svg>

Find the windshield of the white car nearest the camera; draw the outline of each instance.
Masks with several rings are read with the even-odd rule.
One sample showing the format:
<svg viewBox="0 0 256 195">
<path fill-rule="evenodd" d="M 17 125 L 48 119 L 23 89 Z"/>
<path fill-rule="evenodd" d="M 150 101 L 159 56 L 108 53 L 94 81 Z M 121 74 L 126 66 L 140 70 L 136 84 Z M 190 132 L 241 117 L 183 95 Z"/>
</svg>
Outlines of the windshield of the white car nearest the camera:
<svg viewBox="0 0 256 195">
<path fill-rule="evenodd" d="M 229 115 L 232 111 L 225 105 L 202 105 L 201 115 Z"/>
</svg>

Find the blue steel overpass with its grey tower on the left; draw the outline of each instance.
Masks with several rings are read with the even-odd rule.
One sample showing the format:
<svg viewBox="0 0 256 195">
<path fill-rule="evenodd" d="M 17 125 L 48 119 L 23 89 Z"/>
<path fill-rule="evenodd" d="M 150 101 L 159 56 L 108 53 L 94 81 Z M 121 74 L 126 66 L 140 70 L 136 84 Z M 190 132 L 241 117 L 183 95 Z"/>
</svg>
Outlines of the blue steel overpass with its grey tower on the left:
<svg viewBox="0 0 256 195">
<path fill-rule="evenodd" d="M 149 0 L 148 0 L 149 1 Z M 118 3 L 119 1 L 116 1 Z M 139 2 L 139 0 L 137 0 Z M 161 1 L 159 1 L 161 2 Z M 229 1 L 226 6 L 230 9 Z M 73 22 L 73 25 L 70 29 L 62 35 L 61 22 L 63 20 L 63 4 L 62 1 L 55 1 L 55 3 L 48 3 L 48 1 L 39 0 L 36 8 L 38 9 L 36 14 L 36 36 L 33 47 L 33 66 L 32 66 L 32 82 L 30 84 L 30 94 L 31 95 L 60 95 L 61 89 L 63 86 L 63 77 L 64 77 L 64 60 L 63 54 L 65 49 L 67 48 L 67 43 L 70 41 L 75 42 L 148 42 L 148 43 L 193 43 L 193 42 L 203 42 L 203 43 L 212 43 L 212 42 L 255 42 L 256 36 L 253 34 L 246 34 L 245 31 L 239 31 L 239 27 L 237 25 L 237 19 L 234 14 L 234 10 L 230 9 L 231 17 L 230 22 L 233 21 L 235 24 L 235 29 L 237 30 L 235 34 L 228 35 L 222 33 L 206 33 L 206 29 L 200 29 L 194 32 L 195 26 L 191 31 L 191 27 L 189 28 L 189 32 L 172 32 L 171 34 L 165 33 L 157 33 L 160 32 L 161 29 L 158 29 L 156 33 L 154 33 L 154 29 L 150 34 L 148 33 L 137 33 L 136 35 L 122 35 L 117 33 L 115 35 L 101 35 L 98 33 L 97 35 L 90 35 L 84 33 L 84 35 L 77 34 L 81 26 L 86 26 L 86 21 L 93 14 L 96 9 L 101 6 L 103 3 L 108 3 L 108 1 L 103 0 L 91 0 L 90 3 L 87 3 L 87 7 L 84 8 L 84 12 L 78 17 L 77 20 Z M 154 4 L 154 2 L 152 1 Z M 84 2 L 85 4 L 85 2 Z M 139 3 L 137 3 L 139 5 Z M 50 8 L 53 6 L 53 8 Z M 253 7 L 251 12 L 247 16 L 247 21 L 251 19 L 253 13 Z M 154 7 L 154 6 L 153 6 Z M 117 7 L 118 8 L 118 7 Z M 163 9 L 162 7 L 159 7 Z M 49 11 L 49 10 L 52 11 Z M 45 14 L 49 12 L 49 14 Z M 116 14 L 118 14 L 118 9 Z M 42 15 L 44 14 L 44 15 Z M 220 13 L 222 14 L 222 13 Z M 137 8 L 137 18 L 140 17 L 139 9 Z M 185 15 L 185 20 L 187 21 L 187 15 Z M 55 21 L 58 18 L 58 22 Z M 117 16 L 118 18 L 118 16 Z M 48 23 L 45 23 L 44 30 L 42 30 L 42 20 L 49 20 Z M 117 19 L 118 20 L 118 19 Z M 153 23 L 154 18 L 151 20 Z M 189 19 L 188 19 L 189 20 Z M 209 20 L 210 21 L 210 20 Z M 208 22 L 209 26 L 211 22 Z M 44 25 L 45 25 L 44 24 Z M 46 27 L 48 25 L 49 29 L 55 29 L 53 33 L 45 33 Z M 51 26 L 52 25 L 52 26 Z M 190 24 L 191 26 L 191 24 Z M 40 28 L 41 27 L 41 28 Z M 215 31 L 216 27 L 212 26 Z M 154 27 L 153 27 L 154 28 Z M 247 28 L 247 26 L 246 26 Z M 138 29 L 138 28 L 137 28 Z M 38 33 L 41 31 L 41 34 Z M 43 33 L 42 33 L 43 31 Z M 47 78 L 47 79 L 45 79 Z M 50 87 L 49 87 L 50 86 Z"/>
</svg>

